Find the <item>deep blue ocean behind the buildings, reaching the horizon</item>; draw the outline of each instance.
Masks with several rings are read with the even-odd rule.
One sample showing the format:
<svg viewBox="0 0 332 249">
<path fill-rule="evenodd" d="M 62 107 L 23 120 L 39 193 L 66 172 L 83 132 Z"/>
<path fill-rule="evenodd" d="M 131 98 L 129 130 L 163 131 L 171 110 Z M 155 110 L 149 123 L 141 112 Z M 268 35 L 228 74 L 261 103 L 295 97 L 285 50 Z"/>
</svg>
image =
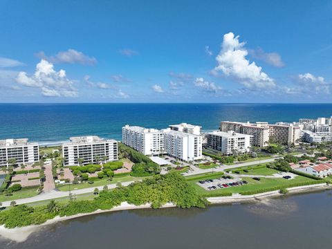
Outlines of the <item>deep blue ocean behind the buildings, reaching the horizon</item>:
<svg viewBox="0 0 332 249">
<path fill-rule="evenodd" d="M 188 122 L 209 131 L 221 120 L 291 122 L 332 116 L 332 104 L 0 104 L 0 116 L 0 139 L 50 144 L 82 135 L 120 140 L 124 124 L 160 129 Z"/>
</svg>

